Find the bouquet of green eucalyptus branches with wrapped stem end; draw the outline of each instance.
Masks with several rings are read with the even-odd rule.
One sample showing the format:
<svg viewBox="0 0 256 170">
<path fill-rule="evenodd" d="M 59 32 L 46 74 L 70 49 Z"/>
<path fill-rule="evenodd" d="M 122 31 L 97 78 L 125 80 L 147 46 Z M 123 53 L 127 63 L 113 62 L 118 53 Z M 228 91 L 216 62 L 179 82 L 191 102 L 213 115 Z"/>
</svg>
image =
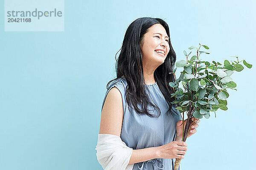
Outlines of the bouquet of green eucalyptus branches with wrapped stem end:
<svg viewBox="0 0 256 170">
<path fill-rule="evenodd" d="M 204 61 L 199 59 L 200 54 L 209 54 L 206 51 L 199 51 L 201 46 L 205 49 L 209 49 L 207 45 L 201 45 L 199 43 L 199 48 L 195 46 L 189 47 L 189 50 L 196 49 L 196 55 L 192 56 L 190 59 L 189 55 L 192 51 L 187 54 L 183 51 L 186 56 L 185 60 L 180 60 L 176 62 L 176 68 L 174 68 L 173 73 L 175 77 L 175 82 L 170 82 L 169 85 L 173 88 L 174 93 L 171 94 L 175 97 L 175 101 L 172 104 L 176 104 L 176 109 L 180 112 L 180 116 L 183 121 L 183 136 L 182 141 L 185 142 L 186 138 L 190 132 L 191 126 L 196 122 L 195 118 L 201 119 L 203 116 L 208 119 L 210 116 L 210 111 L 215 113 L 220 108 L 221 110 L 227 110 L 227 98 L 229 94 L 227 88 L 236 90 L 236 83 L 230 77 L 234 71 L 242 71 L 244 67 L 239 64 L 243 64 L 247 68 L 252 68 L 251 64 L 248 64 L 245 60 L 239 61 L 238 57 L 234 57 L 237 61 L 229 62 L 224 61 L 224 65 L 220 62 Z M 180 72 L 180 77 L 176 79 L 175 71 L 177 67 L 183 67 L 183 71 Z M 179 88 L 179 83 L 181 82 L 182 88 Z M 186 125 L 184 126 L 184 112 L 187 115 Z M 176 159 L 175 170 L 178 169 L 181 159 Z"/>
</svg>

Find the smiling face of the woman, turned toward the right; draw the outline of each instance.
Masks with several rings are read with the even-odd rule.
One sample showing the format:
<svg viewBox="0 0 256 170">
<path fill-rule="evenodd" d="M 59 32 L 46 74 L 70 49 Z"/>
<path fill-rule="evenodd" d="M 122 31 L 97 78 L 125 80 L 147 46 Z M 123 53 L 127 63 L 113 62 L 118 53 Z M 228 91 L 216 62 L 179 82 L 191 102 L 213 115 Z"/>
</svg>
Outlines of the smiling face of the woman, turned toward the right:
<svg viewBox="0 0 256 170">
<path fill-rule="evenodd" d="M 170 51 L 168 42 L 169 37 L 161 24 L 151 26 L 149 31 L 144 34 L 142 46 L 143 65 L 156 68 L 161 65 Z"/>
</svg>

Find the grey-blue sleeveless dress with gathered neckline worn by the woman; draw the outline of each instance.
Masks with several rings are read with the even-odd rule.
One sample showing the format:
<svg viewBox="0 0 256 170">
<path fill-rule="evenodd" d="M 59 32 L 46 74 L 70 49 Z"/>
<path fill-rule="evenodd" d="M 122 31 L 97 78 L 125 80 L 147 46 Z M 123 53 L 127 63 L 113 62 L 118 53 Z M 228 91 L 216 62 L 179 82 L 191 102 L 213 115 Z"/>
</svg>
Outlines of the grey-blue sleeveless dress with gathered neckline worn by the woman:
<svg viewBox="0 0 256 170">
<path fill-rule="evenodd" d="M 129 111 L 125 96 L 126 86 L 127 82 L 125 77 L 121 77 L 111 82 L 111 85 L 109 86 L 110 88 L 107 90 L 102 103 L 103 108 L 106 96 L 111 88 L 116 87 L 121 92 L 123 103 L 123 124 L 120 138 L 122 141 L 125 142 L 128 147 L 133 149 L 157 147 L 175 141 L 176 123 L 181 119 L 181 116 L 180 114 L 175 114 L 174 116 L 166 115 L 166 111 L 169 106 L 160 91 L 157 82 L 152 85 L 145 85 L 148 87 L 148 90 L 147 88 L 145 89 L 150 95 L 149 99 L 151 99 L 151 102 L 155 103 L 155 105 L 157 105 L 161 110 L 161 115 L 158 118 L 153 118 L 148 115 L 140 116 L 131 107 L 129 107 Z M 138 107 L 141 109 L 139 105 Z M 154 108 L 151 107 L 148 111 L 154 115 L 159 114 L 157 110 L 153 110 Z M 177 111 L 175 108 L 174 110 Z M 151 159 L 135 163 L 133 170 L 174 170 L 174 165 L 175 159 Z M 180 167 L 179 170 L 181 170 Z"/>
</svg>

